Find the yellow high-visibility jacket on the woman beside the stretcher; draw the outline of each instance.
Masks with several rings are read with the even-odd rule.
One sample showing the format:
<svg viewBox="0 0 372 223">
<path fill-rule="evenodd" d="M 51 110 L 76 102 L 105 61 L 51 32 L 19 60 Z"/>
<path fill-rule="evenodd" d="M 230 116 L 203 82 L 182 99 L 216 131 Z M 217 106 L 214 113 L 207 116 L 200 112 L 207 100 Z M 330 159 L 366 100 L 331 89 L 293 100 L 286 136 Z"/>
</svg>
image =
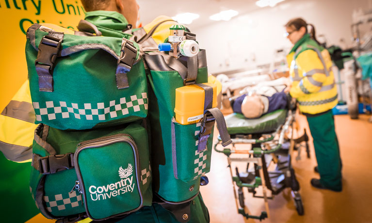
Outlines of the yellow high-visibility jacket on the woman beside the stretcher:
<svg viewBox="0 0 372 223">
<path fill-rule="evenodd" d="M 303 113 L 326 112 L 338 103 L 332 60 L 326 49 L 304 35 L 287 55 L 292 87 Z"/>
</svg>

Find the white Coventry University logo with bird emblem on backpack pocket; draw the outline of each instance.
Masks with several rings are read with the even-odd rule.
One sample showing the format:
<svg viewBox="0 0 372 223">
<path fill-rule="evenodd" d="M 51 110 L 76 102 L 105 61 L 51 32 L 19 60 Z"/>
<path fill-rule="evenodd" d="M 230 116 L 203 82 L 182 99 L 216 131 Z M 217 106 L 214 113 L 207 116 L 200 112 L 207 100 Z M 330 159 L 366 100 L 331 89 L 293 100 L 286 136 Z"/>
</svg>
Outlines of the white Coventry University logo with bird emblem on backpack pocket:
<svg viewBox="0 0 372 223">
<path fill-rule="evenodd" d="M 133 174 L 132 164 L 129 163 L 126 169 L 120 166 L 118 172 L 121 180 L 99 187 L 94 185 L 89 187 L 92 201 L 106 200 L 127 192 L 133 192 L 135 183 L 133 182 L 133 176 L 130 176 Z"/>
</svg>

